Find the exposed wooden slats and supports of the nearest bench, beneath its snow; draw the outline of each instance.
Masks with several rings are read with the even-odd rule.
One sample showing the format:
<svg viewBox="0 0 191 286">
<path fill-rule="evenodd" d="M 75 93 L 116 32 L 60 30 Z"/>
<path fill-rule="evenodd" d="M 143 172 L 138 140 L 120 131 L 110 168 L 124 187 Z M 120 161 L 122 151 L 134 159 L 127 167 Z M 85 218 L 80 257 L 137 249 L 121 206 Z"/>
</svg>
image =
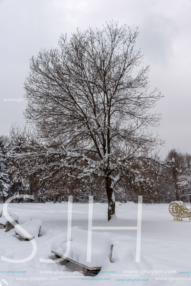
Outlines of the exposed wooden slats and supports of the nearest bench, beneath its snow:
<svg viewBox="0 0 191 286">
<path fill-rule="evenodd" d="M 64 256 L 62 256 L 62 254 L 58 254 L 58 253 L 56 253 L 54 251 L 51 251 L 51 252 L 54 253 L 54 256 L 56 258 L 63 258 L 64 259 L 62 261 L 63 264 L 67 264 L 68 262 L 71 261 L 71 262 L 73 262 L 75 264 L 78 264 L 78 265 L 82 266 L 83 267 L 83 274 L 85 276 L 96 276 L 99 273 L 99 271 L 101 270 L 101 266 L 100 267 L 88 267 L 88 266 L 86 266 L 86 265 L 84 265 L 84 264 L 82 264 L 80 262 L 74 261 L 73 259 L 70 259 L 68 257 L 64 257 Z M 111 251 L 110 251 L 110 256 L 109 256 L 110 262 L 111 262 L 111 259 L 112 259 L 112 252 L 113 252 L 113 245 L 111 245 Z"/>
</svg>

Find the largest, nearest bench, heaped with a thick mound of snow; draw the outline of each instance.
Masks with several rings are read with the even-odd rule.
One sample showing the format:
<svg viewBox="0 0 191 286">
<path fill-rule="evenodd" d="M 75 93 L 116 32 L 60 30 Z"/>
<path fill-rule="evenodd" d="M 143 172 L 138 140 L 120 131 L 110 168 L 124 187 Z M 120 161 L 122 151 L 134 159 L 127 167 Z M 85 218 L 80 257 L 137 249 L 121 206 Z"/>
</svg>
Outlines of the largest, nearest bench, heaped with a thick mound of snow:
<svg viewBox="0 0 191 286">
<path fill-rule="evenodd" d="M 52 243 L 51 252 L 56 258 L 64 258 L 63 264 L 71 261 L 83 267 L 85 276 L 95 276 L 99 273 L 106 259 L 111 262 L 113 244 L 107 234 L 93 231 L 91 262 L 87 262 L 87 241 L 88 231 L 74 226 L 71 228 L 70 251 L 67 257 L 64 256 L 67 248 L 67 235 Z"/>
</svg>

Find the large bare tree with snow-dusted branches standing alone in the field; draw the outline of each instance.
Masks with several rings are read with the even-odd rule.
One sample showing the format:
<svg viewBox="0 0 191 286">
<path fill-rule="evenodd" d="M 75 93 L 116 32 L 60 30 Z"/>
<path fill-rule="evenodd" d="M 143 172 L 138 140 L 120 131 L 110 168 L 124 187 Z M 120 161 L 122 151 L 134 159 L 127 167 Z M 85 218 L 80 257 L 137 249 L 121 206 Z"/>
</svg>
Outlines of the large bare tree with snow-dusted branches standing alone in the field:
<svg viewBox="0 0 191 286">
<path fill-rule="evenodd" d="M 63 167 L 78 178 L 100 176 L 108 220 L 115 213 L 115 185 L 124 176 L 143 180 L 136 166 L 146 159 L 149 167 L 146 157 L 161 144 L 148 132 L 158 125 L 160 114 L 149 110 L 161 95 L 148 91 L 149 66 L 141 67 L 137 36 L 118 23 L 61 36 L 57 49 L 32 57 L 25 83 L 25 116 L 34 131 L 19 143 L 28 151 L 14 156 L 33 162 L 28 172 L 40 168 L 45 177 Z"/>
</svg>

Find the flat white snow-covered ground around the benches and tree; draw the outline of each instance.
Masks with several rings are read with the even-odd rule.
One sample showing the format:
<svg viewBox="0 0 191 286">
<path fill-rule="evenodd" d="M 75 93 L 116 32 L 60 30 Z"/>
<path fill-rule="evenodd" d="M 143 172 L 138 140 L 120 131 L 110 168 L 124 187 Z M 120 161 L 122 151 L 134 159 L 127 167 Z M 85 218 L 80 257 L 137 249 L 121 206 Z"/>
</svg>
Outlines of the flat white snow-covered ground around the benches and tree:
<svg viewBox="0 0 191 286">
<path fill-rule="evenodd" d="M 1 207 L 3 204 L 0 205 Z M 190 206 L 188 205 L 188 207 Z M 136 204 L 117 204 L 118 220 L 113 220 L 113 226 L 136 226 L 137 209 L 138 205 Z M 61 265 L 61 263 L 40 262 L 40 258 L 54 259 L 54 255 L 51 253 L 51 244 L 67 231 L 67 204 L 13 203 L 9 204 L 8 211 L 19 216 L 19 224 L 31 216 L 43 222 L 41 235 L 35 238 L 37 253 L 32 260 L 25 263 L 10 263 L 0 260 L 0 280 L 5 279 L 8 286 L 191 285 L 191 280 L 188 280 L 191 279 L 191 274 L 180 273 L 181 271 L 191 271 L 191 221 L 189 222 L 188 218 L 183 221 L 173 221 L 173 216 L 168 211 L 168 204 L 143 206 L 140 262 L 135 262 L 137 231 L 108 230 L 107 233 L 114 244 L 112 263 L 106 259 L 97 276 L 85 277 L 89 280 L 83 280 L 83 274 L 78 273 L 82 271 L 82 268 L 71 262 L 67 266 Z M 107 222 L 107 204 L 93 204 L 93 225 L 111 225 L 111 222 Z M 83 230 L 88 229 L 88 204 L 73 204 L 72 226 L 78 226 Z M 5 233 L 5 229 L 0 229 L 1 255 L 10 259 L 23 259 L 31 252 L 30 241 L 19 240 L 13 230 Z M 132 273 L 127 270 L 132 270 Z M 3 273 L 3 271 L 7 273 Z M 13 274 L 8 271 L 26 271 L 26 273 Z M 168 280 L 156 280 L 156 278 Z M 135 280 L 133 282 L 130 279 L 148 279 L 148 281 Z"/>
</svg>

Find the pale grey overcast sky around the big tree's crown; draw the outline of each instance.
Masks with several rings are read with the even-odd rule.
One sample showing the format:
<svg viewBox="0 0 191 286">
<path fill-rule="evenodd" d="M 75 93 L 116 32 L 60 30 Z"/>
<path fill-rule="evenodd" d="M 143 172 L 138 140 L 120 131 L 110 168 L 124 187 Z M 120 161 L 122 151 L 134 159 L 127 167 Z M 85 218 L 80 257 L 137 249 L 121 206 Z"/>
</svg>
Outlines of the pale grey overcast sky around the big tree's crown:
<svg viewBox="0 0 191 286">
<path fill-rule="evenodd" d="M 29 58 L 56 47 L 61 33 L 102 28 L 113 19 L 138 26 L 137 48 L 150 64 L 151 86 L 164 95 L 157 104 L 157 130 L 166 142 L 161 154 L 173 146 L 191 153 L 190 15 L 190 0 L 0 0 L 0 134 L 24 123 L 25 103 L 3 99 L 23 98 Z"/>
</svg>

